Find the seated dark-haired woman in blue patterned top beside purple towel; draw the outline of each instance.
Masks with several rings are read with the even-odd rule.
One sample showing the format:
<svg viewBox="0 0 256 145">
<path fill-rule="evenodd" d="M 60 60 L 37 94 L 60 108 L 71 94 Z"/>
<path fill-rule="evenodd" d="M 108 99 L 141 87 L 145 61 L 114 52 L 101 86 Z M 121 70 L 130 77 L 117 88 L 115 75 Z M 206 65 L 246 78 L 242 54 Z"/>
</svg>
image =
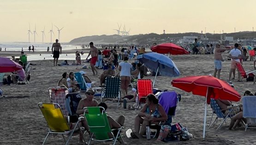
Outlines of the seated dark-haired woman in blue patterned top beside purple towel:
<svg viewBox="0 0 256 145">
<path fill-rule="evenodd" d="M 149 94 L 146 104 L 135 117 L 135 132 L 131 133 L 132 138 L 141 138 L 146 133 L 146 126 L 150 124 L 159 124 L 161 121 L 167 120 L 167 114 L 154 94 Z M 141 125 L 142 124 L 142 125 Z"/>
</svg>

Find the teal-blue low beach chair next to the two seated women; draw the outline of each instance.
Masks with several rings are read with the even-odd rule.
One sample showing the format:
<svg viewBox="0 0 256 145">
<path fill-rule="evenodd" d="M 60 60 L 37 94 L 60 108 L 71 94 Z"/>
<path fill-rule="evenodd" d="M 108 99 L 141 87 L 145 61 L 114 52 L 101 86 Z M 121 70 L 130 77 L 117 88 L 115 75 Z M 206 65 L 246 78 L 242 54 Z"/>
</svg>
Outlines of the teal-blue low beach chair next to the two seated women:
<svg viewBox="0 0 256 145">
<path fill-rule="evenodd" d="M 77 84 L 79 85 L 81 91 L 86 91 L 88 88 L 92 88 L 94 89 L 97 93 L 98 91 L 101 91 L 101 87 L 91 87 L 91 85 L 94 83 L 87 83 L 84 78 L 83 75 L 80 72 L 75 72 L 74 76 L 77 80 Z"/>
</svg>

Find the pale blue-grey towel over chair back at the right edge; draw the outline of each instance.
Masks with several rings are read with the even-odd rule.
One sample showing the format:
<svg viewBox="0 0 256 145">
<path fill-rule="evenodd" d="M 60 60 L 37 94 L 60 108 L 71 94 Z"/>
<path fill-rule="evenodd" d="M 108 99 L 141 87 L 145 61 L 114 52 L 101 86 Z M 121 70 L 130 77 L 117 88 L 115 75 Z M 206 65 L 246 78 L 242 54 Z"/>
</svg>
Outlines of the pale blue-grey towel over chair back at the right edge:
<svg viewBox="0 0 256 145">
<path fill-rule="evenodd" d="M 243 97 L 243 117 L 256 118 L 256 96 Z"/>
</svg>

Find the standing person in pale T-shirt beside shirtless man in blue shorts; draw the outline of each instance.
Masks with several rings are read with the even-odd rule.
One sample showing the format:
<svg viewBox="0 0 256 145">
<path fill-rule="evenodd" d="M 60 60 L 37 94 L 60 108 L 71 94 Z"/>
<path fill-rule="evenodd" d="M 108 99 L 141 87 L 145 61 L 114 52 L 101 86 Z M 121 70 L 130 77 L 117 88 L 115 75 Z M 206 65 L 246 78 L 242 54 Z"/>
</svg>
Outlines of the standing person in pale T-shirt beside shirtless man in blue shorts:
<svg viewBox="0 0 256 145">
<path fill-rule="evenodd" d="M 233 79 L 235 79 L 235 73 L 236 73 L 236 64 L 240 63 L 240 58 L 241 58 L 241 51 L 238 49 L 238 43 L 236 43 L 235 48 L 233 48 L 230 52 L 229 55 L 227 56 L 228 58 L 231 58 L 231 65 L 230 65 L 230 71 L 229 71 L 229 81 L 231 78 L 231 75 L 233 73 Z"/>
</svg>

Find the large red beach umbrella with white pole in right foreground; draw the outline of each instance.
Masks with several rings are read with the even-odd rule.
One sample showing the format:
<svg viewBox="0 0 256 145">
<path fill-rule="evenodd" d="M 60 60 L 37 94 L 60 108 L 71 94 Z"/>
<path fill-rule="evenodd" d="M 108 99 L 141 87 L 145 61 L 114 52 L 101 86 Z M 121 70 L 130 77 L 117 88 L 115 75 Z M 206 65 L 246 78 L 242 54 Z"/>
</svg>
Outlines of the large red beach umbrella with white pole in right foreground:
<svg viewBox="0 0 256 145">
<path fill-rule="evenodd" d="M 239 101 L 241 99 L 241 95 L 226 81 L 222 81 L 211 75 L 186 76 L 175 79 L 171 83 L 173 87 L 177 87 L 186 92 L 192 92 L 195 95 L 206 97 L 203 138 L 205 137 L 206 105 L 207 103 L 210 103 L 210 99 L 223 99 L 230 101 Z"/>
</svg>

